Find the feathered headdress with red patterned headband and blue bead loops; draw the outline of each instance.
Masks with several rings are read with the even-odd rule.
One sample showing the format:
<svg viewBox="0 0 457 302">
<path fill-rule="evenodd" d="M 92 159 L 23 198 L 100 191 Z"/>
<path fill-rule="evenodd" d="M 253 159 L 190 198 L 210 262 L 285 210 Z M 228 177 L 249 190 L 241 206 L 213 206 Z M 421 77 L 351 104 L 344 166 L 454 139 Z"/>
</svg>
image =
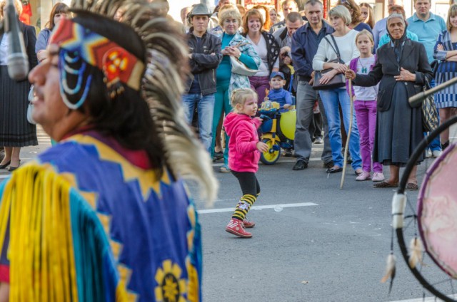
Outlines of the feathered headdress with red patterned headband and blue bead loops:
<svg viewBox="0 0 457 302">
<path fill-rule="evenodd" d="M 122 21 L 113 21 L 119 10 L 123 11 Z M 163 4 L 74 0 L 71 11 L 76 18 L 61 21 L 50 42 L 60 47 L 61 95 L 66 105 L 75 110 L 84 104 L 94 71 L 103 74 L 110 98 L 122 95 L 126 89 L 138 91 L 149 105 L 171 172 L 196 181 L 201 197 L 213 201 L 218 185 L 211 160 L 186 125 L 181 104 L 189 73 L 188 50 L 184 36 L 163 15 Z M 112 32 L 103 34 L 96 28 L 86 28 L 78 23 L 81 18 L 109 21 Z M 133 49 L 123 35 L 137 35 L 143 49 Z"/>
</svg>

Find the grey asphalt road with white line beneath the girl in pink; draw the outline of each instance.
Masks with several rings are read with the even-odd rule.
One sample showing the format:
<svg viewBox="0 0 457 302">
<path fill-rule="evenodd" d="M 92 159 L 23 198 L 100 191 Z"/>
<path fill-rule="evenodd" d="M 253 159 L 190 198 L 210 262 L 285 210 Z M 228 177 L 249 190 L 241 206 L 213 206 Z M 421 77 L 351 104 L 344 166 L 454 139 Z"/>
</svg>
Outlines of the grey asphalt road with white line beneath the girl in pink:
<svg viewBox="0 0 457 302">
<path fill-rule="evenodd" d="M 39 143 L 21 150 L 23 162 L 49 147 L 41 130 Z M 341 173 L 326 174 L 318 158 L 321 147 L 313 147 L 303 171 L 293 171 L 295 160 L 286 157 L 273 166 L 260 165 L 261 196 L 248 215 L 256 222 L 252 239 L 224 231 L 241 190 L 235 177 L 219 173 L 221 163 L 214 163 L 219 198 L 210 208 L 196 199 L 204 301 L 415 301 L 423 296 L 397 247 L 390 295 L 388 284 L 380 283 L 390 251 L 393 189 L 356 182 L 351 167 L 339 189 Z M 420 166 L 419 175 L 430 163 Z M 0 182 L 7 175 L 1 170 Z M 417 192 L 408 197 L 416 199 Z"/>
</svg>

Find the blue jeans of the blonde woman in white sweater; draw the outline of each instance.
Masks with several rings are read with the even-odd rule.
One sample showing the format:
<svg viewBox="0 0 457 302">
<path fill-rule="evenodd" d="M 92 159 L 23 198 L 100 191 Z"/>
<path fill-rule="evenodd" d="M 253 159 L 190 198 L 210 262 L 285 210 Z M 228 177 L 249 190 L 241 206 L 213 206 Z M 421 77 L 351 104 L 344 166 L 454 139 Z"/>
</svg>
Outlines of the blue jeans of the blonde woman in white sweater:
<svg viewBox="0 0 457 302">
<path fill-rule="evenodd" d="M 351 100 L 346 89 L 336 88 L 332 90 L 321 90 L 323 107 L 326 109 L 328 121 L 328 137 L 330 138 L 331 155 L 333 162 L 338 167 L 343 167 L 343 155 L 341 155 L 341 129 L 340 129 L 340 112 L 338 105 L 341 105 L 343 111 L 343 123 L 346 132 L 349 133 L 349 121 L 351 118 Z M 349 152 L 352 157 L 352 168 L 357 170 L 362 167 L 360 157 L 360 140 L 358 138 L 358 128 L 356 123 L 356 110 L 353 110 L 352 115 L 352 131 L 351 140 L 349 141 Z"/>
</svg>

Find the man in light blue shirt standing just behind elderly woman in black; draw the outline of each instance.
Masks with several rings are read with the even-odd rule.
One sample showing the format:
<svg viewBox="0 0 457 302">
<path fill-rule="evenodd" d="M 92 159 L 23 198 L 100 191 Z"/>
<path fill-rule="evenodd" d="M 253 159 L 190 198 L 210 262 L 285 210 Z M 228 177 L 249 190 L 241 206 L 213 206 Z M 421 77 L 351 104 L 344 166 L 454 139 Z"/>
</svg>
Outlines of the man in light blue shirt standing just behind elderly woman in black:
<svg viewBox="0 0 457 302">
<path fill-rule="evenodd" d="M 446 30 L 446 22 L 443 18 L 431 13 L 430 1 L 431 0 L 414 0 L 414 9 L 416 9 L 416 13 L 406 20 L 408 21 L 408 30 L 416 33 L 419 42 L 426 48 L 428 63 L 433 61 L 433 48 L 435 47 L 439 33 Z M 435 85 L 434 80 L 432 80 L 431 85 L 432 87 Z M 440 137 L 436 137 L 428 147 L 430 147 L 430 150 L 427 150 L 426 157 L 440 156 Z"/>
</svg>

